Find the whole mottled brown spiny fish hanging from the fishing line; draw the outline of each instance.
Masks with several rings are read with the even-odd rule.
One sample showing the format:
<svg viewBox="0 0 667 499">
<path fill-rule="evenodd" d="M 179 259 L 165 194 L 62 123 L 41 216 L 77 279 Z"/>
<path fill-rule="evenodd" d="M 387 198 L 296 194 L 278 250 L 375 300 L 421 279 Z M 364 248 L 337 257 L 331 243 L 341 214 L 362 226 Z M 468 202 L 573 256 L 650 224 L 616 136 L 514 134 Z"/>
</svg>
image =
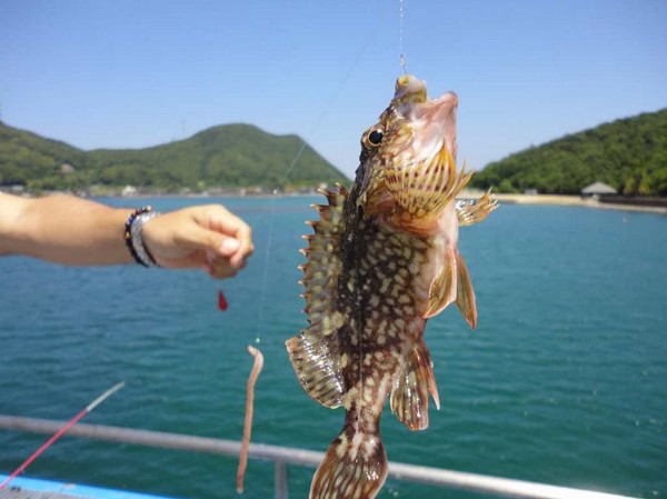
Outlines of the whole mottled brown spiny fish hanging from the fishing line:
<svg viewBox="0 0 667 499">
<path fill-rule="evenodd" d="M 456 166 L 458 97 L 427 98 L 426 82 L 399 77 L 378 121 L 361 134 L 351 189 L 320 190 L 319 220 L 301 252 L 308 327 L 286 341 L 303 390 L 346 410 L 311 482 L 311 499 L 370 499 L 388 472 L 380 416 L 410 430 L 440 401 L 424 335 L 450 303 L 475 328 L 477 307 L 458 250 L 459 226 L 497 203 L 489 192 L 457 201 L 471 172 Z"/>
</svg>

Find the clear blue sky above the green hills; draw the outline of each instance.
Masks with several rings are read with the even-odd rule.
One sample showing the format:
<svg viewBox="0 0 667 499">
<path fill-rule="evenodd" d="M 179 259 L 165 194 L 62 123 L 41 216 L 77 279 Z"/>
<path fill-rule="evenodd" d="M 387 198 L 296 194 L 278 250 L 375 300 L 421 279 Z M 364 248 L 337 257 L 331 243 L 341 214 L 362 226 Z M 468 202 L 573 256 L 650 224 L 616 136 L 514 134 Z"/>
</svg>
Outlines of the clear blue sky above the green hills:
<svg viewBox="0 0 667 499">
<path fill-rule="evenodd" d="M 82 149 L 251 123 L 351 178 L 400 53 L 458 93 L 472 169 L 667 107 L 665 0 L 0 0 L 0 120 Z"/>
</svg>

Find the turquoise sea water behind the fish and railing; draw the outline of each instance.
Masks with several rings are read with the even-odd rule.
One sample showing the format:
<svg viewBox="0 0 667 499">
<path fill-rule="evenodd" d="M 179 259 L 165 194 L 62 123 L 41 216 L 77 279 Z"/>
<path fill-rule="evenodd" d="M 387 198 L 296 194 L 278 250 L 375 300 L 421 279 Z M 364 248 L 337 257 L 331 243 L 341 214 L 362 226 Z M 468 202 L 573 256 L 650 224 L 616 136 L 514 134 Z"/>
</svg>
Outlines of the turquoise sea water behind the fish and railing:
<svg viewBox="0 0 667 499">
<path fill-rule="evenodd" d="M 253 440 L 323 450 L 344 413 L 308 399 L 283 347 L 306 323 L 297 266 L 313 200 L 221 200 L 251 222 L 257 247 L 242 275 L 222 283 L 199 272 L 0 259 L 0 413 L 69 419 L 126 380 L 86 422 L 239 439 L 245 348 L 259 337 Z M 150 201 L 161 210 L 210 202 Z M 666 497 L 667 217 L 502 206 L 461 230 L 461 251 L 479 327 L 470 331 L 455 309 L 429 321 L 442 409 L 431 408 L 418 433 L 387 412 L 389 459 Z M 0 470 L 43 440 L 0 431 Z M 28 470 L 200 499 L 235 497 L 235 472 L 225 457 L 68 438 Z M 291 497 L 306 497 L 311 473 L 290 469 Z M 271 465 L 250 461 L 245 497 L 271 496 Z M 379 497 L 480 496 L 389 480 Z"/>
</svg>

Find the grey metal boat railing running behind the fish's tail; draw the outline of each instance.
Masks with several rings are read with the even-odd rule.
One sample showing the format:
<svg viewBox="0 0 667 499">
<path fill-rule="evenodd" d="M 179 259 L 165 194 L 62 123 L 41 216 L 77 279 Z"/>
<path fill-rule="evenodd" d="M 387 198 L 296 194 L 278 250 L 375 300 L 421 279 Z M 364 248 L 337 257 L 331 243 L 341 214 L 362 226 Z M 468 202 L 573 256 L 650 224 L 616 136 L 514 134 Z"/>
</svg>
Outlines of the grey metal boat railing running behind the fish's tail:
<svg viewBox="0 0 667 499">
<path fill-rule="evenodd" d="M 13 431 L 36 433 L 56 433 L 64 425 L 63 421 L 21 418 L 0 415 L 0 428 Z M 108 427 L 101 425 L 77 423 L 66 433 L 70 437 L 82 437 L 111 442 L 135 443 L 139 446 L 179 449 L 192 452 L 207 452 L 238 457 L 241 442 L 190 435 L 147 431 L 130 428 Z M 323 457 L 322 452 L 266 443 L 250 443 L 249 458 L 273 462 L 276 499 L 287 499 L 288 466 L 317 467 Z M 466 473 L 425 466 L 389 462 L 389 476 L 418 483 L 455 488 L 475 492 L 491 493 L 500 497 L 532 499 L 631 499 L 628 496 L 595 492 L 589 490 L 556 487 L 508 478 Z"/>
</svg>

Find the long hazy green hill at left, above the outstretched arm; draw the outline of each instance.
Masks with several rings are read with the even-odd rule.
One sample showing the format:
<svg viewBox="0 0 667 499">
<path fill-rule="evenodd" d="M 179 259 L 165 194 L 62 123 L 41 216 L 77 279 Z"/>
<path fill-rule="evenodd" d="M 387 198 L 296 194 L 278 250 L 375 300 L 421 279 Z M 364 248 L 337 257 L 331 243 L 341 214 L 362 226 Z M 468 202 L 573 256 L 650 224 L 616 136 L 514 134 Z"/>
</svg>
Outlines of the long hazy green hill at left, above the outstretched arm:
<svg viewBox="0 0 667 499">
<path fill-rule="evenodd" d="M 302 150 L 301 150 L 302 149 Z M 293 163 L 293 164 L 292 164 Z M 0 122 L 0 186 L 161 190 L 298 188 L 347 179 L 297 136 L 226 124 L 146 149 L 83 151 Z"/>
</svg>

